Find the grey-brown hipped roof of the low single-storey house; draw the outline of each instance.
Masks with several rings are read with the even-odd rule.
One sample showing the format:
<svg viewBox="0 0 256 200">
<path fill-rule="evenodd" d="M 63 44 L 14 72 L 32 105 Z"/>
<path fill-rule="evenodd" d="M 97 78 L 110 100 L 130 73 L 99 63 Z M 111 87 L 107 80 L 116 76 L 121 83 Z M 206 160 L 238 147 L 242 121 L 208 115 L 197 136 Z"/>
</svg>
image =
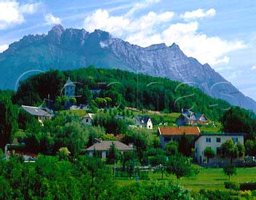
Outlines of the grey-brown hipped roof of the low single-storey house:
<svg viewBox="0 0 256 200">
<path fill-rule="evenodd" d="M 89 148 L 86 148 L 86 151 L 108 151 L 108 149 L 110 148 L 110 146 L 114 144 L 117 148 L 118 151 L 132 151 L 133 148 L 121 143 L 121 141 L 117 141 L 117 140 L 105 140 L 105 141 L 101 141 L 101 143 L 96 143 L 92 146 L 90 146 Z"/>
</svg>

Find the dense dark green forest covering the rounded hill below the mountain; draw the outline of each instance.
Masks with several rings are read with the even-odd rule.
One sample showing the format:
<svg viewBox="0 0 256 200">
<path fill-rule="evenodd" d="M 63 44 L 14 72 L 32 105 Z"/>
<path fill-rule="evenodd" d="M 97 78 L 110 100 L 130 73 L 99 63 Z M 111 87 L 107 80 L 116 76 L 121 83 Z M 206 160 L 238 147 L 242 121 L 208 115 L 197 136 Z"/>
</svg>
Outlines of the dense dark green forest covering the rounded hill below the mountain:
<svg viewBox="0 0 256 200">
<path fill-rule="evenodd" d="M 54 70 L 31 76 L 20 83 L 13 102 L 19 105 L 40 105 L 49 97 L 55 101 L 61 95 L 68 77 L 76 82 L 76 95 L 81 96 L 76 98 L 78 104 L 90 104 L 95 97 L 92 90 L 101 89 L 97 97 L 109 97 L 110 106 L 121 108 L 130 106 L 165 112 L 192 108 L 196 113 L 205 113 L 210 119 L 219 120 L 223 109 L 230 107 L 225 101 L 211 98 L 197 88 L 185 84 L 179 86 L 180 82 L 121 70 L 97 69 L 94 66 L 65 72 Z M 219 106 L 211 107 L 213 104 Z"/>
</svg>

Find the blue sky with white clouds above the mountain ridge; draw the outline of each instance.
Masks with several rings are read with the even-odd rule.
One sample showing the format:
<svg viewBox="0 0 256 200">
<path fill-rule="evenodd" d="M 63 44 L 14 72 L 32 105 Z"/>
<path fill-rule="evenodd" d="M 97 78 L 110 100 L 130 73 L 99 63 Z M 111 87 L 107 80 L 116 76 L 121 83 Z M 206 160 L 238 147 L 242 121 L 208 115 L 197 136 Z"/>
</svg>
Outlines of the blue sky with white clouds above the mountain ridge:
<svg viewBox="0 0 256 200">
<path fill-rule="evenodd" d="M 256 100 L 255 1 L 2 1 L 0 52 L 54 24 L 102 29 L 132 44 L 177 43 Z"/>
</svg>

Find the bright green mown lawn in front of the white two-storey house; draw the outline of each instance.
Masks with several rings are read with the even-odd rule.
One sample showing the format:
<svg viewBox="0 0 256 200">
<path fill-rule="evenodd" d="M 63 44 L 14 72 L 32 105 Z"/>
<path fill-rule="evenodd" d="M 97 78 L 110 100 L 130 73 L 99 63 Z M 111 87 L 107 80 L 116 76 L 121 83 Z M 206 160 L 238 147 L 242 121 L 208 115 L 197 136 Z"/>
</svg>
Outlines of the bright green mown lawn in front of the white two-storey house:
<svg viewBox="0 0 256 200">
<path fill-rule="evenodd" d="M 179 181 L 170 175 L 166 177 L 164 175 L 163 180 L 161 179 L 161 173 L 149 172 L 149 179 L 147 181 L 166 181 L 172 180 L 174 184 L 179 183 L 179 185 L 184 188 L 200 190 L 200 189 L 220 189 L 224 190 L 224 182 L 228 181 L 228 177 L 223 173 L 222 168 L 202 168 L 201 172 L 197 176 L 189 178 L 181 178 Z M 230 178 L 230 181 L 237 183 L 251 182 L 256 180 L 256 168 L 237 168 L 237 174 Z M 134 180 L 118 179 L 115 180 L 117 184 L 126 185 L 135 182 Z M 144 181 L 144 180 L 143 180 Z"/>
</svg>

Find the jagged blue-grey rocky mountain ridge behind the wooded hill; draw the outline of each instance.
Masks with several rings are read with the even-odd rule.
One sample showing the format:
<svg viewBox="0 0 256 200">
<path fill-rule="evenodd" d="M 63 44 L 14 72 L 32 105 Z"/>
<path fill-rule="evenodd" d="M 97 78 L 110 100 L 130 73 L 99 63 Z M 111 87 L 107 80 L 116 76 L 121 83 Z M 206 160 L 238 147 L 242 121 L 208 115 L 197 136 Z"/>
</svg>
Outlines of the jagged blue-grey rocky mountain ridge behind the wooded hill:
<svg viewBox="0 0 256 200">
<path fill-rule="evenodd" d="M 193 57 L 187 57 L 175 43 L 169 47 L 157 44 L 142 48 L 102 30 L 89 33 L 60 25 L 54 26 L 47 35 L 25 36 L 0 54 L 0 88 L 14 89 L 26 72 L 28 76 L 34 70 L 72 70 L 91 64 L 185 82 L 212 97 L 256 111 L 253 99 L 239 93 L 209 64 L 202 65 Z"/>
</svg>

